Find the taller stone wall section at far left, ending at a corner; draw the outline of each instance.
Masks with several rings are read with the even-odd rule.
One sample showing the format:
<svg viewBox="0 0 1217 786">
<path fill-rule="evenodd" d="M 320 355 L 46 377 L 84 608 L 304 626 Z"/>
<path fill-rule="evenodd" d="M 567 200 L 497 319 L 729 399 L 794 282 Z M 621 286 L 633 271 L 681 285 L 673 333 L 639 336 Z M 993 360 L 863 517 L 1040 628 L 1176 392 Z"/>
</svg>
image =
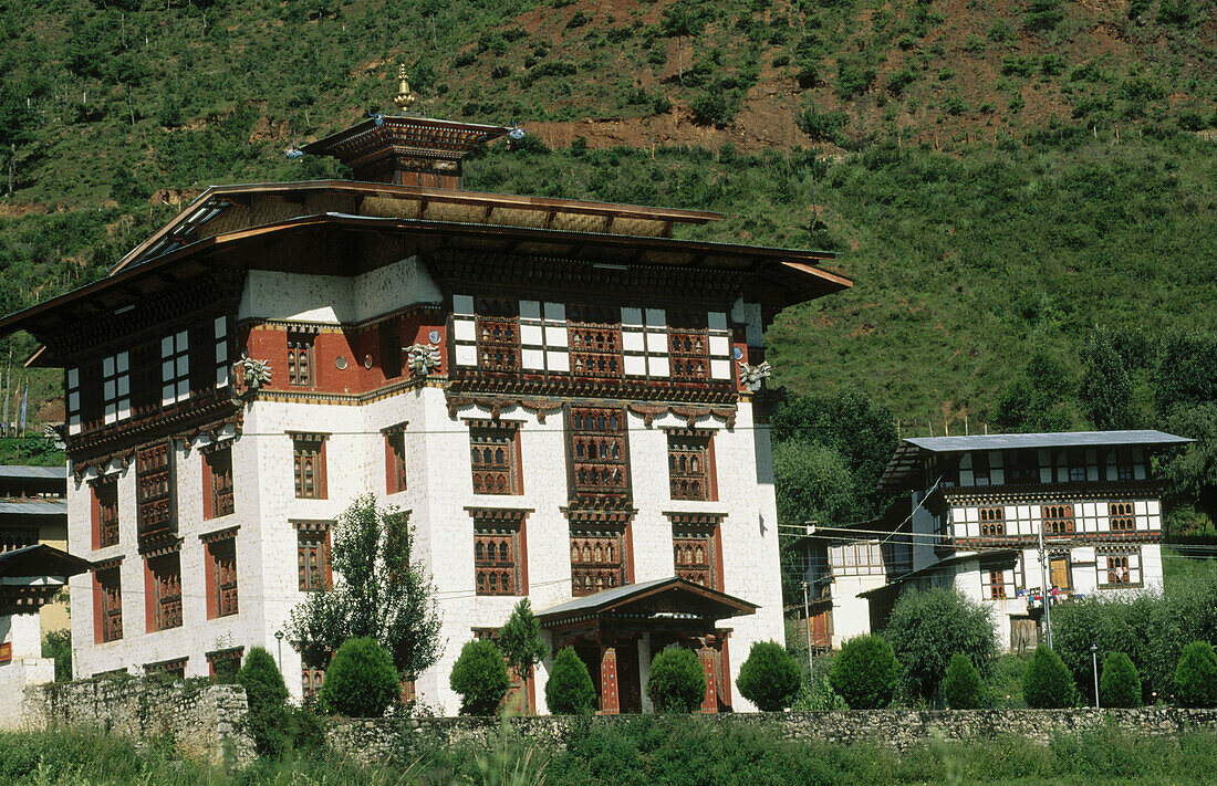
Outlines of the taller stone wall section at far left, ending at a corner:
<svg viewBox="0 0 1217 786">
<path fill-rule="evenodd" d="M 240 767 L 254 758 L 240 685 L 189 686 L 158 679 L 97 678 L 26 689 L 23 726 L 94 726 L 147 741 L 170 737 L 184 756 Z"/>
</svg>

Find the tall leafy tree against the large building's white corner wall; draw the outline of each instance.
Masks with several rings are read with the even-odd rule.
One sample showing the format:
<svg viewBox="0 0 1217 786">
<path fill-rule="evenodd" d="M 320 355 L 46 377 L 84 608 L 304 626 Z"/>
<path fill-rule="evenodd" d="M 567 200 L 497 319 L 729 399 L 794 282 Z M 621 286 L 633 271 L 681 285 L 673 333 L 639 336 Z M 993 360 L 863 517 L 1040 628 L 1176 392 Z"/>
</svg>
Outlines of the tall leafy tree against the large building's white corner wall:
<svg viewBox="0 0 1217 786">
<path fill-rule="evenodd" d="M 364 494 L 343 511 L 331 550 L 338 580 L 292 610 L 291 638 L 309 663 L 324 663 L 347 639 L 375 639 L 403 675 L 439 659 L 439 612 L 431 578 L 414 556 L 414 527 Z"/>
</svg>

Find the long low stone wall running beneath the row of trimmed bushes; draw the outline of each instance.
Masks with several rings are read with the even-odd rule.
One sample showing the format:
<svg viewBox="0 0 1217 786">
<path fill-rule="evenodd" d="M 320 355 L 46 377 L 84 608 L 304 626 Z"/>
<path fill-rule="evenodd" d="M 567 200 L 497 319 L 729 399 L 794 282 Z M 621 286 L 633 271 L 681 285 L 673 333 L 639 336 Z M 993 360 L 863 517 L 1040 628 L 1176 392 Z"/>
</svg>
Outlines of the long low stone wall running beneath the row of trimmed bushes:
<svg viewBox="0 0 1217 786">
<path fill-rule="evenodd" d="M 908 749 L 935 739 L 968 741 L 1023 737 L 1047 745 L 1058 735 L 1095 731 L 1109 723 L 1134 735 L 1171 736 L 1190 729 L 1217 731 L 1217 709 L 964 709 L 856 712 L 735 713 L 703 715 L 711 723 L 765 725 L 787 740 L 868 742 Z M 522 736 L 563 746 L 567 736 L 587 724 L 619 723 L 626 717 L 512 718 L 507 723 Z M 361 762 L 408 753 L 417 743 L 489 743 L 500 722 L 494 718 L 333 719 L 327 722 L 330 747 Z"/>
</svg>

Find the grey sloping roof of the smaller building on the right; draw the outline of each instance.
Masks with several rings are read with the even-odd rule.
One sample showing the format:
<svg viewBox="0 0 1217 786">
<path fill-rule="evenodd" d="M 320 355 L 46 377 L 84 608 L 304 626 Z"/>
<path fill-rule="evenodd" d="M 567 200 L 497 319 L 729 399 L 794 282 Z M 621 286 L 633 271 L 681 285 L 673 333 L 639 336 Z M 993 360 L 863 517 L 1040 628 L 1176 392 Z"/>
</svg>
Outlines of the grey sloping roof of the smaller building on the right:
<svg viewBox="0 0 1217 786">
<path fill-rule="evenodd" d="M 910 437 L 892 454 L 880 485 L 899 487 L 926 454 L 969 450 L 1015 450 L 1020 448 L 1109 448 L 1116 445 L 1170 447 L 1194 439 L 1161 431 L 1062 431 L 1039 434 L 971 434 L 968 437 Z"/>
</svg>

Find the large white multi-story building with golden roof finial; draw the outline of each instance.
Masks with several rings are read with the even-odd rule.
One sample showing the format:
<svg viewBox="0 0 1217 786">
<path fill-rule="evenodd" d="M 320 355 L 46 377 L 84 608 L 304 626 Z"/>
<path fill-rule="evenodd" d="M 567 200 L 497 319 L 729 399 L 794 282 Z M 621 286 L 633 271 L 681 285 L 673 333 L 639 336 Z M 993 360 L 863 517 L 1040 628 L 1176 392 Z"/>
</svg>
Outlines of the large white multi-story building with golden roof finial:
<svg viewBox="0 0 1217 786">
<path fill-rule="evenodd" d="M 260 645 L 315 690 L 324 664 L 275 634 L 371 490 L 438 593 L 424 701 L 455 711 L 461 644 L 528 596 L 605 712 L 641 708 L 673 644 L 707 708 L 731 703 L 783 634 L 762 331 L 849 282 L 830 254 L 673 237 L 719 214 L 461 190 L 507 131 L 368 119 L 305 148 L 353 180 L 211 187 L 107 277 L 0 321 L 65 369 L 69 543 L 95 563 L 77 674 L 207 674 Z"/>
</svg>

